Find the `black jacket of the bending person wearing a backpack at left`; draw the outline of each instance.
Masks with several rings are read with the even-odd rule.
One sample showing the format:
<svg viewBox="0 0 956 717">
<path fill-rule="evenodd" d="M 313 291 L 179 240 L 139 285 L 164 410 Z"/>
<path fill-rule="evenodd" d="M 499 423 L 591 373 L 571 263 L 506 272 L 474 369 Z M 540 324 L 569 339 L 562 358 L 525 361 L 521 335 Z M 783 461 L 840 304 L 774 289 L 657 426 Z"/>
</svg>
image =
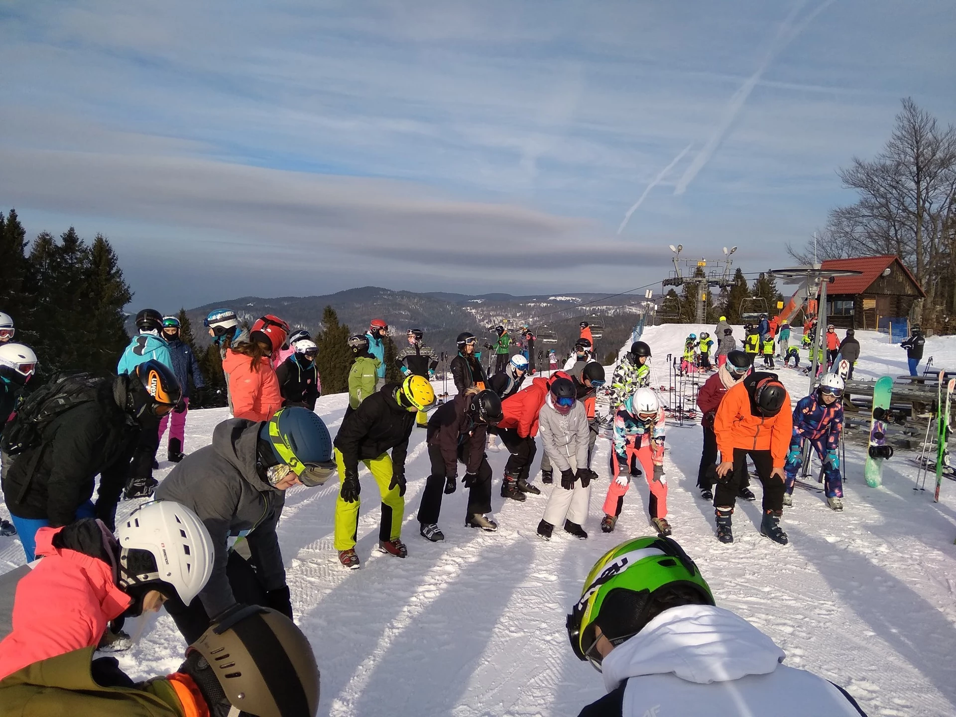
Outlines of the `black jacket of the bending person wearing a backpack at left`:
<svg viewBox="0 0 956 717">
<path fill-rule="evenodd" d="M 3 493 L 11 513 L 49 520 L 54 528 L 76 520 L 100 476 L 97 517 L 112 531 L 120 492 L 140 438 L 140 426 L 122 408 L 124 376 L 102 379 L 94 401 L 78 403 L 43 430 L 42 443 L 4 456 Z"/>
</svg>

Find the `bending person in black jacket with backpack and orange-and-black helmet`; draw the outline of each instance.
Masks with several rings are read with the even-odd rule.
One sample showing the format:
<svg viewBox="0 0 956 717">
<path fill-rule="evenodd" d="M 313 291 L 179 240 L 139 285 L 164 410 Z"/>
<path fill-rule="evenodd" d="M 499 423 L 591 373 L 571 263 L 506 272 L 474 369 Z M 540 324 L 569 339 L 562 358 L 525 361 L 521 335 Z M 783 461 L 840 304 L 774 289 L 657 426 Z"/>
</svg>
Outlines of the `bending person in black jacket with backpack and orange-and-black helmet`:
<svg viewBox="0 0 956 717">
<path fill-rule="evenodd" d="M 142 430 L 155 438 L 156 419 L 180 398 L 175 374 L 155 359 L 115 379 L 66 376 L 31 394 L 2 443 L 4 500 L 27 562 L 33 560 L 33 535 L 45 526 L 98 517 L 113 529 L 143 417 L 150 421 Z"/>
</svg>

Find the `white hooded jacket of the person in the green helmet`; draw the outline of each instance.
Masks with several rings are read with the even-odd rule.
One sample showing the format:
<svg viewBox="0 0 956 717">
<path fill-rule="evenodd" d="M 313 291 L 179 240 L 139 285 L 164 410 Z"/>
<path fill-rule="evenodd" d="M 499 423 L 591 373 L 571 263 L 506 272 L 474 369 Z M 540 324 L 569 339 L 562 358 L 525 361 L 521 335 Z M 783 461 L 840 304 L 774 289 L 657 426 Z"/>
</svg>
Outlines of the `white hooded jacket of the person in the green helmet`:
<svg viewBox="0 0 956 717">
<path fill-rule="evenodd" d="M 720 607 L 682 605 L 616 647 L 602 670 L 608 692 L 625 684 L 625 717 L 863 714 L 834 684 L 783 659 L 783 650 L 746 619 Z"/>
</svg>

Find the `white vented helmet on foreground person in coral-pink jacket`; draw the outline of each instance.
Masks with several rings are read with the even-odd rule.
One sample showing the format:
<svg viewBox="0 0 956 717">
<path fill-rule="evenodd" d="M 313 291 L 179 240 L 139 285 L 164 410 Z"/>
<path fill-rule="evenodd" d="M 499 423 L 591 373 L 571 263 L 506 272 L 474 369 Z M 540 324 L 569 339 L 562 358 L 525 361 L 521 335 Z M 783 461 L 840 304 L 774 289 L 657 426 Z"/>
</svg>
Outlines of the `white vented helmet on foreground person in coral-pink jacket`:
<svg viewBox="0 0 956 717">
<path fill-rule="evenodd" d="M 175 592 L 188 605 L 212 575 L 212 538 L 203 521 L 171 500 L 142 505 L 117 527 L 120 587 Z"/>
</svg>

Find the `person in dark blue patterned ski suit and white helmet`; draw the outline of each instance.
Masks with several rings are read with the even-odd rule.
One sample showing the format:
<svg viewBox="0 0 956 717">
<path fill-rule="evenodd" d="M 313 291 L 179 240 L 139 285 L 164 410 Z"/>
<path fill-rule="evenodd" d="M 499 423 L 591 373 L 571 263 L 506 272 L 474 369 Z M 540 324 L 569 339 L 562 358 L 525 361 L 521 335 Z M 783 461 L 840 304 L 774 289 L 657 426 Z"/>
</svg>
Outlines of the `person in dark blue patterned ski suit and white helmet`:
<svg viewBox="0 0 956 717">
<path fill-rule="evenodd" d="M 823 374 L 816 390 L 796 402 L 793 408 L 793 436 L 787 452 L 787 475 L 783 504 L 793 505 L 793 485 L 803 466 L 804 441 L 810 441 L 823 466 L 823 489 L 827 505 L 843 510 L 843 479 L 839 472 L 839 440 L 843 431 L 843 380 L 836 374 Z"/>
</svg>

